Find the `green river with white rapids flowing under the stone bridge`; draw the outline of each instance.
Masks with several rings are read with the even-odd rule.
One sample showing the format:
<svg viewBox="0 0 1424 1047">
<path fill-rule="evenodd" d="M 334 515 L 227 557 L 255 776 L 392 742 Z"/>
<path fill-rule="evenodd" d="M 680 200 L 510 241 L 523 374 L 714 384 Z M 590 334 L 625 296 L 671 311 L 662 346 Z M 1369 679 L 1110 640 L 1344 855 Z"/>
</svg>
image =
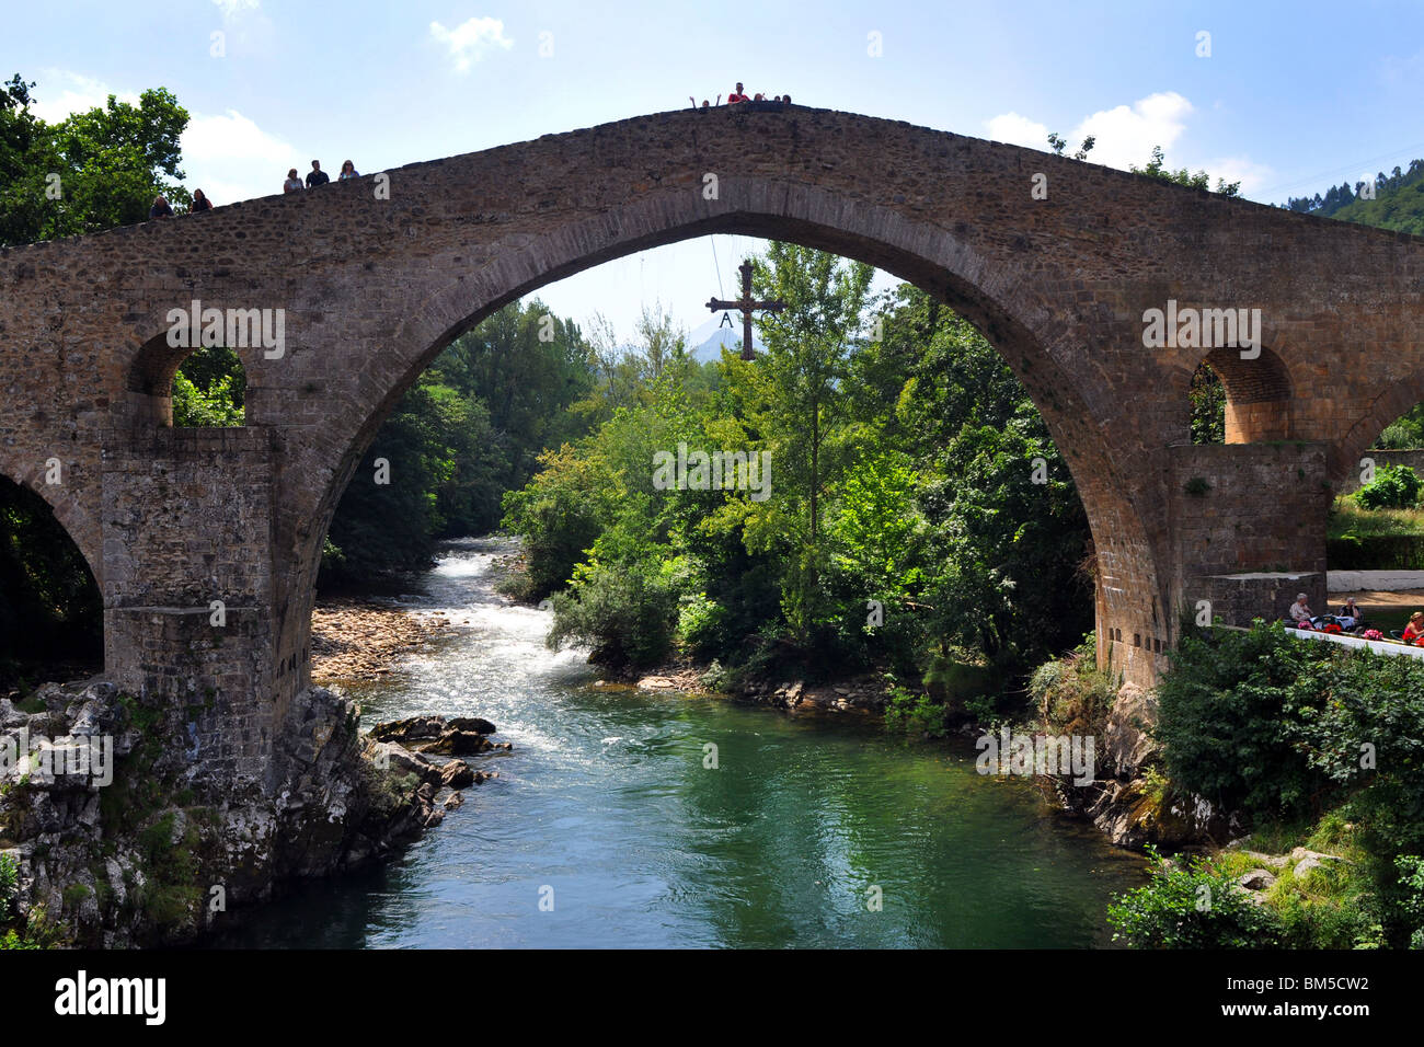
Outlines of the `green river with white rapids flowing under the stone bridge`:
<svg viewBox="0 0 1424 1047">
<path fill-rule="evenodd" d="M 511 754 L 400 859 L 310 885 L 212 942 L 232 947 L 1088 947 L 1146 880 L 1141 856 L 967 739 L 856 714 L 595 687 L 550 615 L 493 590 L 501 538 L 441 550 L 402 601 L 454 625 L 352 692 L 366 724 L 480 715 Z M 706 766 L 708 744 L 716 766 Z M 876 905 L 879 902 L 879 905 Z"/>
</svg>

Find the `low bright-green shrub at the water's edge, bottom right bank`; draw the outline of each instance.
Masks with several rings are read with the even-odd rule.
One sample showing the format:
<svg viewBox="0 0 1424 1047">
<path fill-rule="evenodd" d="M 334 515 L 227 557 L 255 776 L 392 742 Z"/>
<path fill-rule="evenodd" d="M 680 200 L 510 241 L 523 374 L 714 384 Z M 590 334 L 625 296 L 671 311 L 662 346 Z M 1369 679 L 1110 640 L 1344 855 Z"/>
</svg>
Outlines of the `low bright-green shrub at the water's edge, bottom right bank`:
<svg viewBox="0 0 1424 1047">
<path fill-rule="evenodd" d="M 1112 940 L 1136 949 L 1270 949 L 1282 943 L 1279 916 L 1256 905 L 1229 873 L 1192 859 L 1169 868 L 1148 848 L 1156 876 L 1108 906 Z"/>
</svg>

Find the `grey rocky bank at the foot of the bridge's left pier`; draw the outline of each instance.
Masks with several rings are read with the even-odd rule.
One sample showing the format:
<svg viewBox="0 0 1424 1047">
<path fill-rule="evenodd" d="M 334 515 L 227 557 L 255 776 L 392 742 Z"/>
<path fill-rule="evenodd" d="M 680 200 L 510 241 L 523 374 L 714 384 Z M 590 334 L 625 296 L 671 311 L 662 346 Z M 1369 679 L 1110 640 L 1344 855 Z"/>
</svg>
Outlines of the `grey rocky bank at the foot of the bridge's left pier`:
<svg viewBox="0 0 1424 1047">
<path fill-rule="evenodd" d="M 399 852 L 488 776 L 461 754 L 508 748 L 487 721 L 426 718 L 420 741 L 456 756 L 436 764 L 363 736 L 356 707 L 313 687 L 265 775 L 209 786 L 181 704 L 87 681 L 46 684 L 21 705 L 0 699 L 0 937 L 11 943 L 191 942 L 288 883 Z"/>
</svg>

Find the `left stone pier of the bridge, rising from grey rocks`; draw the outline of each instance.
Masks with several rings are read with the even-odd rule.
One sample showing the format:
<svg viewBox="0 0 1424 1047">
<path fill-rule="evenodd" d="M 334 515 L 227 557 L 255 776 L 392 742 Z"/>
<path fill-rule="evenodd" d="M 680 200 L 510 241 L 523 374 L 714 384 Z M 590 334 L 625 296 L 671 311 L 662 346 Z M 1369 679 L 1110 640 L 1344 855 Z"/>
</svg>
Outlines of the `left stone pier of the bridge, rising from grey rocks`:
<svg viewBox="0 0 1424 1047">
<path fill-rule="evenodd" d="M 295 694 L 273 634 L 273 457 L 265 427 L 105 443 L 105 675 L 182 709 L 188 758 L 219 791 L 271 785 Z"/>
</svg>

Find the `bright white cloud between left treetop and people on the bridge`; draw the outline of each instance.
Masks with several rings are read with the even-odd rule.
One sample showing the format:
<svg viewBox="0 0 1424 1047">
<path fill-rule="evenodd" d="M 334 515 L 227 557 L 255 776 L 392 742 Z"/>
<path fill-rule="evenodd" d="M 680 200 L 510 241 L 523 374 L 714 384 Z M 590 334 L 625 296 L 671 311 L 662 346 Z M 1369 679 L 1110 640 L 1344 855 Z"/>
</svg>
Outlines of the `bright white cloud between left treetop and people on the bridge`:
<svg viewBox="0 0 1424 1047">
<path fill-rule="evenodd" d="M 184 184 L 201 188 L 218 205 L 281 192 L 289 168 L 305 174 L 310 167 L 309 157 L 236 110 L 194 115 L 181 145 Z M 332 167 L 339 170 L 340 164 Z"/>
</svg>

